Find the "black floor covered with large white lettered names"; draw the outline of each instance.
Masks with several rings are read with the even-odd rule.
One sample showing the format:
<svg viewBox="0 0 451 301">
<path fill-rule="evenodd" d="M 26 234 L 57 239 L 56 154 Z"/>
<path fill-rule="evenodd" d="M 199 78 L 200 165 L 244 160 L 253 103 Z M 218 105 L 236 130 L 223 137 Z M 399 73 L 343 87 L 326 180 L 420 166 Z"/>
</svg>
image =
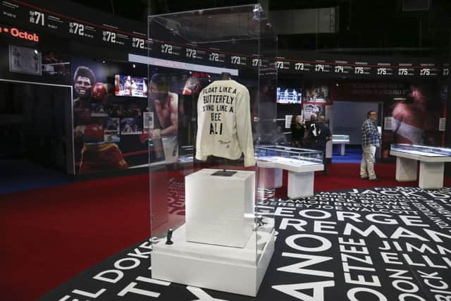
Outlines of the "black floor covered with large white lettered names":
<svg viewBox="0 0 451 301">
<path fill-rule="evenodd" d="M 451 300 L 451 189 L 268 199 L 276 250 L 257 298 L 151 278 L 141 242 L 39 300 Z M 202 266 L 199 266 L 202 269 Z"/>
</svg>

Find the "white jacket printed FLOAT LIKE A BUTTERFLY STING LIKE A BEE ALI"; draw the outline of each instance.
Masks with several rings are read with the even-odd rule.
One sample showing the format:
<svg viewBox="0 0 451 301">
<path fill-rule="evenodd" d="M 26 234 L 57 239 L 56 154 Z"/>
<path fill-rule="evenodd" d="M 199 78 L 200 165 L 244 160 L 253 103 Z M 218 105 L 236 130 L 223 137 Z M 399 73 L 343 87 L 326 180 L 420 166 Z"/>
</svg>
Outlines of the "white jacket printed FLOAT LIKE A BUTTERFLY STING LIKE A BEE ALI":
<svg viewBox="0 0 451 301">
<path fill-rule="evenodd" d="M 236 160 L 241 154 L 245 166 L 255 165 L 249 91 L 235 80 L 215 80 L 197 101 L 196 159 Z"/>
</svg>

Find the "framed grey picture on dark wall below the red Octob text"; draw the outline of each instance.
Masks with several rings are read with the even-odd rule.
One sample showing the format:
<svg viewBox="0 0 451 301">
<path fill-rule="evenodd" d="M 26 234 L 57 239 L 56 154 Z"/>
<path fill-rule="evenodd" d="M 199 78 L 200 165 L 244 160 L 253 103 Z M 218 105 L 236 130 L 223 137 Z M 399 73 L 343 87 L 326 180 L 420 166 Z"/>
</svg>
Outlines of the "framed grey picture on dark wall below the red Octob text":
<svg viewBox="0 0 451 301">
<path fill-rule="evenodd" d="M 42 75 L 41 53 L 36 49 L 9 45 L 9 71 Z"/>
</svg>

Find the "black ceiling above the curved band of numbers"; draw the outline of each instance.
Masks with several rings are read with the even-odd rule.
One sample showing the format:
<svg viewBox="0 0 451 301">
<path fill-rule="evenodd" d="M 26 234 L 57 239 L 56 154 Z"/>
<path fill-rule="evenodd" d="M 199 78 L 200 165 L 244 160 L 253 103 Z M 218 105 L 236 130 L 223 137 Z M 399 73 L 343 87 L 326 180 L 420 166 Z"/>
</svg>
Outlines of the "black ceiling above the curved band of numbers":
<svg viewBox="0 0 451 301">
<path fill-rule="evenodd" d="M 339 8 L 336 33 L 279 35 L 280 49 L 402 56 L 449 56 L 451 0 L 429 0 L 429 9 L 403 11 L 403 3 L 427 0 L 268 0 L 269 11 Z M 146 16 L 202 8 L 254 4 L 232 0 L 73 0 L 140 22 Z M 277 28 L 276 28 L 277 31 Z"/>
</svg>

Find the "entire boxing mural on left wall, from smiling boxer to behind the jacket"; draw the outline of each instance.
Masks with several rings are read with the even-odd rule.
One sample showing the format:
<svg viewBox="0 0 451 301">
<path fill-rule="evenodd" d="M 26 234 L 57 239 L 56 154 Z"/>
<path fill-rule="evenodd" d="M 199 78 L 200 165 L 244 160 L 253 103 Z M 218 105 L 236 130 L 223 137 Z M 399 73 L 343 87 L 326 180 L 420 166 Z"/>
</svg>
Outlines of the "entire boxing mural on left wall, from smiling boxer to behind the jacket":
<svg viewBox="0 0 451 301">
<path fill-rule="evenodd" d="M 187 116 L 209 74 L 82 57 L 71 63 L 75 173 L 172 164 L 192 152 L 196 127 Z"/>
</svg>

